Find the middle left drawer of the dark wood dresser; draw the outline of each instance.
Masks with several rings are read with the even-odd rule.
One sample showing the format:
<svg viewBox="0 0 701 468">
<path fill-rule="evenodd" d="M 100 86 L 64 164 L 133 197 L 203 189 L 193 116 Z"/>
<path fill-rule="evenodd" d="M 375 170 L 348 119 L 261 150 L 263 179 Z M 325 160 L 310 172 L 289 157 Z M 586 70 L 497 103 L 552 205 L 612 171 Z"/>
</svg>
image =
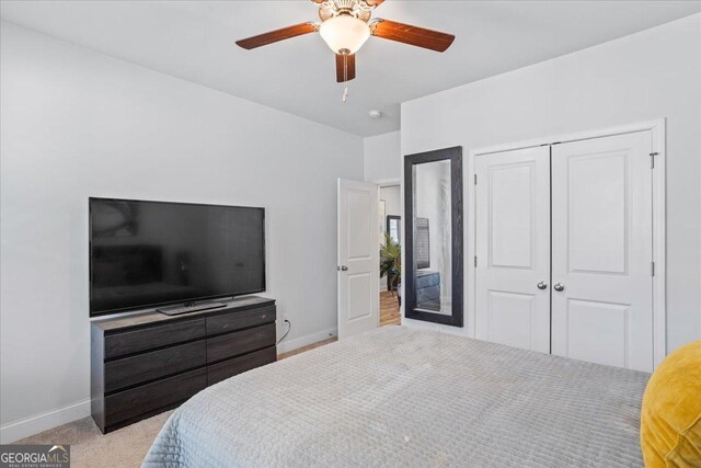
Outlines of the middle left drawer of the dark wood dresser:
<svg viewBox="0 0 701 468">
<path fill-rule="evenodd" d="M 111 361 L 105 363 L 105 391 L 204 366 L 206 362 L 205 340 Z"/>
</svg>

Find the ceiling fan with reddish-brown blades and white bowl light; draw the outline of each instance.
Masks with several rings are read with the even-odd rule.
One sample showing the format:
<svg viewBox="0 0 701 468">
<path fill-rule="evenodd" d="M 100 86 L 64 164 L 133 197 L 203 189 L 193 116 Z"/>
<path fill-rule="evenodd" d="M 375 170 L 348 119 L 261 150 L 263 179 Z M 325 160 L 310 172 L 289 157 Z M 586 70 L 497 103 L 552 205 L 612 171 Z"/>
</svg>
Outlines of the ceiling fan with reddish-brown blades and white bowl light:
<svg viewBox="0 0 701 468">
<path fill-rule="evenodd" d="M 319 33 L 336 54 L 336 81 L 355 78 L 355 53 L 370 36 L 397 41 L 436 52 L 445 52 L 456 38 L 452 34 L 416 27 L 395 21 L 372 19 L 372 10 L 384 0 L 311 0 L 319 7 L 321 23 L 307 22 L 237 41 L 252 49 L 309 33 Z"/>
</svg>

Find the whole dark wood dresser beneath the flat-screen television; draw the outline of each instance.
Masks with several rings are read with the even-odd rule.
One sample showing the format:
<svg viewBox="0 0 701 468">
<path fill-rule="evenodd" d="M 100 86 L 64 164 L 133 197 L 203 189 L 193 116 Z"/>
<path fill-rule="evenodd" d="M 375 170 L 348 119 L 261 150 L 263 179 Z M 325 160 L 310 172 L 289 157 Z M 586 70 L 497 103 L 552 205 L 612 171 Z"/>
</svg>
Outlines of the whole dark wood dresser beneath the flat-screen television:
<svg viewBox="0 0 701 468">
<path fill-rule="evenodd" d="M 107 433 L 275 362 L 275 319 L 274 299 L 248 296 L 200 312 L 93 321 L 92 418 Z"/>
</svg>

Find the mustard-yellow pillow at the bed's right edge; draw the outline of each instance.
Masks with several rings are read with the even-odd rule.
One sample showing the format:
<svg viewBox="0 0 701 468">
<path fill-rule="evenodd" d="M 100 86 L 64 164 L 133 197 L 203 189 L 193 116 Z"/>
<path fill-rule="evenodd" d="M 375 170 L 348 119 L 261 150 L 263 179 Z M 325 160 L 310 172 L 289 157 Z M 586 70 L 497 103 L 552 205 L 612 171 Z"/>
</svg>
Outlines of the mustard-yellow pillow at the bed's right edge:
<svg viewBox="0 0 701 468">
<path fill-rule="evenodd" d="M 640 444 L 647 468 L 701 467 L 701 340 L 668 355 L 650 378 Z"/>
</svg>

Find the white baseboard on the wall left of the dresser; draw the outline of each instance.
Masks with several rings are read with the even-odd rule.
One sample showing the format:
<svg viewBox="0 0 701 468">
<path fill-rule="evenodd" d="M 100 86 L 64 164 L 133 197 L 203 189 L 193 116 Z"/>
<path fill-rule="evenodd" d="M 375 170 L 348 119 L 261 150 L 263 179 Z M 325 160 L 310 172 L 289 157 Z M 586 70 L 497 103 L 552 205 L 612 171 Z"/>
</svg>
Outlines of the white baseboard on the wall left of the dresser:
<svg viewBox="0 0 701 468">
<path fill-rule="evenodd" d="M 0 444 L 11 444 L 20 438 L 28 437 L 89 415 L 90 398 L 87 398 L 77 403 L 24 418 L 0 426 Z M 60 443 L 61 441 L 56 442 Z"/>
</svg>

